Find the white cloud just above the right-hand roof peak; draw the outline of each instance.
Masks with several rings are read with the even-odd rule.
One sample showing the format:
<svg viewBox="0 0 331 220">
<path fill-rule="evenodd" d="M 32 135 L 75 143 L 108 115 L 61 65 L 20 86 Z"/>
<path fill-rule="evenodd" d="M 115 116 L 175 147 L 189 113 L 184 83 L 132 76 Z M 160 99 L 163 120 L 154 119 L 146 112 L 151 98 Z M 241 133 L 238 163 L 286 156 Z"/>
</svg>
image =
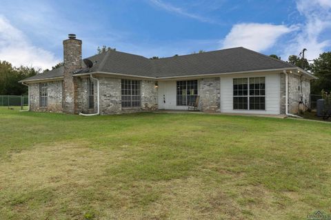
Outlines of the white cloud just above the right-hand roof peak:
<svg viewBox="0 0 331 220">
<path fill-rule="evenodd" d="M 272 25 L 268 23 L 239 23 L 221 41 L 222 48 L 247 47 L 262 52 L 272 47 L 283 34 L 292 32 L 294 26 Z"/>
</svg>

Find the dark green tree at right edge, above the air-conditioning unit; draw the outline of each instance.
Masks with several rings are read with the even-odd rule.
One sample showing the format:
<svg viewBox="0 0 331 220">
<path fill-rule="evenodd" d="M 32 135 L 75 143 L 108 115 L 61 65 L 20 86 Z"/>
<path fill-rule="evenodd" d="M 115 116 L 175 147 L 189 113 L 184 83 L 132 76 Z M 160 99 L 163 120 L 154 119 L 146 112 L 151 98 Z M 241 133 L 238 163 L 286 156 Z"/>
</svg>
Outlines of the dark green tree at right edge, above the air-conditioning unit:
<svg viewBox="0 0 331 220">
<path fill-rule="evenodd" d="M 331 52 L 319 54 L 311 65 L 314 76 L 319 79 L 312 83 L 312 94 L 321 94 L 322 89 L 331 92 Z"/>
</svg>

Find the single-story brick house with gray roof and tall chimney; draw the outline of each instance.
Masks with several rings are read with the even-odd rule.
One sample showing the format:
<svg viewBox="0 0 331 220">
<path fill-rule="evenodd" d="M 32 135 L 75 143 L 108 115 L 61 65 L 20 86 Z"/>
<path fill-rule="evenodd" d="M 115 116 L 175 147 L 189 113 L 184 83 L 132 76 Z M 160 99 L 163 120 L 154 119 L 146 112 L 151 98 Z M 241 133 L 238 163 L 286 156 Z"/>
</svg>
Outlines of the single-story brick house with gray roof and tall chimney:
<svg viewBox="0 0 331 220">
<path fill-rule="evenodd" d="M 30 111 L 185 110 L 199 96 L 205 112 L 297 113 L 316 78 L 243 47 L 154 60 L 108 51 L 82 60 L 81 45 L 69 34 L 62 67 L 20 81 L 28 85 Z"/>
</svg>

